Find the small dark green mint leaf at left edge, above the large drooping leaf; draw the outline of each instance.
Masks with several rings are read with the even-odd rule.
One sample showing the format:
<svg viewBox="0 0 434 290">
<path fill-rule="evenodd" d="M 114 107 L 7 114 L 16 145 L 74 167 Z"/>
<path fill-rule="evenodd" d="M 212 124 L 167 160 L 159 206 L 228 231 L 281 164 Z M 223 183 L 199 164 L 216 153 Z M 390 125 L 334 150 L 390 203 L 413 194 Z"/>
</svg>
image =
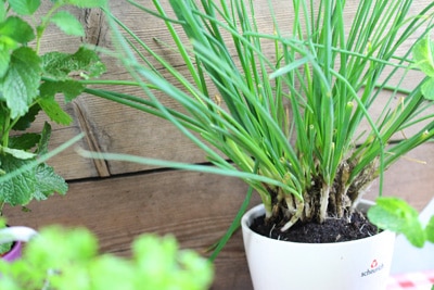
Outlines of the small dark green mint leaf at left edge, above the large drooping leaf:
<svg viewBox="0 0 434 290">
<path fill-rule="evenodd" d="M 27 43 L 35 39 L 31 26 L 16 16 L 10 16 L 0 24 L 0 35 L 8 36 L 20 43 Z"/>
</svg>

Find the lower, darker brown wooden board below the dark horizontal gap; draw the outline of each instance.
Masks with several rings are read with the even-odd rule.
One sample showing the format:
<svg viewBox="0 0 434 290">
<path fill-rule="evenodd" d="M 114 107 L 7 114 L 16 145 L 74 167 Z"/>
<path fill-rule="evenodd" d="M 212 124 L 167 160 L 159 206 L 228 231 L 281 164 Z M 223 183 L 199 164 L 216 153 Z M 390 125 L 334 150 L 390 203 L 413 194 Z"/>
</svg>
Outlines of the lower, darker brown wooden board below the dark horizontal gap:
<svg viewBox="0 0 434 290">
<path fill-rule="evenodd" d="M 430 157 L 426 159 L 426 155 Z M 385 178 L 385 194 L 405 198 L 418 210 L 433 198 L 434 147 L 412 155 L 422 165 L 401 160 Z M 246 192 L 234 178 L 178 171 L 71 182 L 65 197 L 33 202 L 31 212 L 5 209 L 12 225 L 86 226 L 97 234 L 102 252 L 130 254 L 129 243 L 143 232 L 173 234 L 182 248 L 206 249 L 225 232 Z M 367 194 L 375 197 L 375 187 Z M 251 205 L 259 202 L 254 196 Z M 241 232 L 237 232 L 215 262 L 213 289 L 252 289 Z"/>
</svg>

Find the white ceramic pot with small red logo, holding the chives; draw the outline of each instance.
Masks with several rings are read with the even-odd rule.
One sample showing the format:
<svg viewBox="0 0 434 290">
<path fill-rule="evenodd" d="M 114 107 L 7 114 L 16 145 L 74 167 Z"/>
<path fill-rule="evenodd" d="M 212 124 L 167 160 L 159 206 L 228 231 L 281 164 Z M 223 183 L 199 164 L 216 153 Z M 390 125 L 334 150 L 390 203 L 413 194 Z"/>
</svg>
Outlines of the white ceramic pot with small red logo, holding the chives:
<svg viewBox="0 0 434 290">
<path fill-rule="evenodd" d="M 361 201 L 366 211 L 372 203 Z M 384 290 L 395 234 L 339 243 L 297 243 L 270 239 L 250 229 L 264 205 L 246 212 L 241 220 L 244 248 L 256 290 Z"/>
</svg>

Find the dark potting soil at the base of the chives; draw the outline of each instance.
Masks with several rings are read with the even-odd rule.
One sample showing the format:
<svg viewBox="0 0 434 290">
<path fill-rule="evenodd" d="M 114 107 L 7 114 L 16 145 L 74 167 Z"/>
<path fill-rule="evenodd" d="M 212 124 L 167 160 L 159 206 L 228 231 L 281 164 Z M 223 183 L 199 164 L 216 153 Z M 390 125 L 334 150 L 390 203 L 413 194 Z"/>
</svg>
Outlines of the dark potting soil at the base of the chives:
<svg viewBox="0 0 434 290">
<path fill-rule="evenodd" d="M 353 213 L 350 218 L 327 218 L 323 224 L 295 224 L 284 232 L 276 225 L 265 225 L 264 216 L 259 216 L 254 219 L 251 229 L 272 239 L 306 243 L 350 241 L 378 234 L 376 227 L 359 212 Z"/>
</svg>

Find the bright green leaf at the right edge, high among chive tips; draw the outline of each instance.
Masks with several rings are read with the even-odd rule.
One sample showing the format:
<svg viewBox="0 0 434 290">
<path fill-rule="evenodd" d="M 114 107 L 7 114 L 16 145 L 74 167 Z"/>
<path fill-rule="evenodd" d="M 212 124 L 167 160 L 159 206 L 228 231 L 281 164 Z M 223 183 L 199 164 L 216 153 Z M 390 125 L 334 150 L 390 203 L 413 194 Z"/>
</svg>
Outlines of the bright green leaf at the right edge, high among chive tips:
<svg viewBox="0 0 434 290">
<path fill-rule="evenodd" d="M 427 76 L 434 77 L 434 45 L 429 37 L 419 40 L 411 52 L 414 66 L 419 67 Z"/>
</svg>

